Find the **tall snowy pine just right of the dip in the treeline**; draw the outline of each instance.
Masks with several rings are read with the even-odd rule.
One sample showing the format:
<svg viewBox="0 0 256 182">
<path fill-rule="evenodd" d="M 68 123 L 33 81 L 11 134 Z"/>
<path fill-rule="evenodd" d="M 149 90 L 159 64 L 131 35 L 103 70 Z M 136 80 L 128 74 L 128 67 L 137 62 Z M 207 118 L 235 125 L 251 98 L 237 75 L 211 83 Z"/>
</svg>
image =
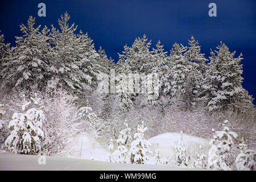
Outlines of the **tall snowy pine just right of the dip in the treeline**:
<svg viewBox="0 0 256 182">
<path fill-rule="evenodd" d="M 150 87 L 148 86 L 150 85 L 150 79 L 147 79 L 147 76 L 152 73 L 152 62 L 154 61 L 152 51 L 150 51 L 150 45 L 151 40 L 148 41 L 146 35 L 143 35 L 143 38 L 136 38 L 131 47 L 124 47 L 125 50 L 123 51 L 122 55 L 119 54 L 118 61 L 118 64 L 126 64 L 124 65 L 124 68 L 121 69 L 121 71 L 118 73 L 125 73 L 127 77 L 129 73 L 132 73 L 132 77 L 135 77 L 136 80 L 134 78 L 130 78 L 130 81 L 127 81 L 131 85 L 133 85 L 130 86 L 128 90 L 133 90 L 133 93 L 136 93 L 136 96 L 138 96 L 138 93 L 143 94 L 144 97 L 142 97 L 142 105 L 148 104 L 148 93 L 153 93 L 152 90 L 150 90 L 150 92 L 148 92 L 147 90 L 147 87 Z M 127 72 L 127 67 L 129 67 L 129 72 Z M 135 82 L 139 85 L 139 88 L 136 86 L 137 84 L 135 84 Z M 135 88 L 133 88 L 134 86 Z M 134 98 L 135 96 L 133 96 L 133 100 Z M 125 99 L 124 101 L 126 100 L 127 99 Z"/>
</svg>

